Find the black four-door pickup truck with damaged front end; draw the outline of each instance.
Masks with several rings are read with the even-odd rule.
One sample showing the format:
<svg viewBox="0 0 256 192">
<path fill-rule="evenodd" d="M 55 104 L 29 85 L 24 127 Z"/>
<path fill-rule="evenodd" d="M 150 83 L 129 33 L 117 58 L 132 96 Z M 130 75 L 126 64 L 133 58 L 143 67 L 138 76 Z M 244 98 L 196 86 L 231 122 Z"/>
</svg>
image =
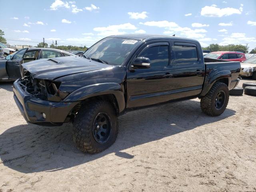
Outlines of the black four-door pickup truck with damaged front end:
<svg viewBox="0 0 256 192">
<path fill-rule="evenodd" d="M 198 41 L 173 36 L 104 38 L 82 57 L 22 64 L 14 100 L 27 122 L 73 122 L 74 142 L 97 153 L 114 143 L 125 112 L 200 98 L 210 116 L 224 112 L 239 82 L 240 62 L 203 57 Z"/>
</svg>

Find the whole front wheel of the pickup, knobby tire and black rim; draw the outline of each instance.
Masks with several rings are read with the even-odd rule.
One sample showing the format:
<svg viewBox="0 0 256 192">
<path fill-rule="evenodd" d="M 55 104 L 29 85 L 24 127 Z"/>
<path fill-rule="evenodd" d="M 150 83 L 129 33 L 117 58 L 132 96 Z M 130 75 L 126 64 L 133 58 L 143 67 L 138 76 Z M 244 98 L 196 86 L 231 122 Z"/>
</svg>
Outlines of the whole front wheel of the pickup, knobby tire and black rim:
<svg viewBox="0 0 256 192">
<path fill-rule="evenodd" d="M 82 152 L 94 154 L 110 147 L 118 134 L 118 121 L 110 102 L 86 102 L 74 119 L 73 140 Z"/>
</svg>

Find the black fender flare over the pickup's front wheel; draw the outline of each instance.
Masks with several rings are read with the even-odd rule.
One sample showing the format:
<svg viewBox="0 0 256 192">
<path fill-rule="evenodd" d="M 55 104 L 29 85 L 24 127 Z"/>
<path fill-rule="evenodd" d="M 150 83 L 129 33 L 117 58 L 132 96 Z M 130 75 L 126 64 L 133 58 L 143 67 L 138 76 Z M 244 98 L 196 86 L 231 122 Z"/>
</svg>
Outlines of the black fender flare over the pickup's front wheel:
<svg viewBox="0 0 256 192">
<path fill-rule="evenodd" d="M 76 102 L 82 101 L 90 97 L 113 94 L 118 103 L 119 112 L 125 109 L 124 92 L 122 87 L 118 83 L 100 83 L 85 86 L 70 93 L 63 101 L 64 102 Z"/>
</svg>

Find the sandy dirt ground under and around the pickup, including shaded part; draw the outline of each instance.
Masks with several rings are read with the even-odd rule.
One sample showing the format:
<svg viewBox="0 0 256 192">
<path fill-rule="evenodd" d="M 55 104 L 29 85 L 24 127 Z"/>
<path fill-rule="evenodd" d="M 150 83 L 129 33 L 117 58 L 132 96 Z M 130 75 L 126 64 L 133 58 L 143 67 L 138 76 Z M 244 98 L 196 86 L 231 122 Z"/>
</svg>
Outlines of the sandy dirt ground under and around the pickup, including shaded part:
<svg viewBox="0 0 256 192">
<path fill-rule="evenodd" d="M 199 99 L 127 113 L 95 155 L 74 147 L 72 124 L 27 124 L 12 96 L 0 83 L 0 192 L 256 192 L 254 96 L 230 96 L 218 117 Z"/>
</svg>

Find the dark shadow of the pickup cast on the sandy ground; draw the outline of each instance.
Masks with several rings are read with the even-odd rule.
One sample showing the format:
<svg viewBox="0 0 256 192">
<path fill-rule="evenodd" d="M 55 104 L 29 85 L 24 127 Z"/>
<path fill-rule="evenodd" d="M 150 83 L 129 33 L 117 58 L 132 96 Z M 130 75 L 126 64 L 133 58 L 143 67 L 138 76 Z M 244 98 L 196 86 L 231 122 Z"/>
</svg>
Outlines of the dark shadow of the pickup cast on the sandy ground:
<svg viewBox="0 0 256 192">
<path fill-rule="evenodd" d="M 130 112 L 118 118 L 116 142 L 94 155 L 83 154 L 74 147 L 72 124 L 60 127 L 18 125 L 0 135 L 0 164 L 19 172 L 32 173 L 70 168 L 107 154 L 132 159 L 133 154 L 122 150 L 220 121 L 233 116 L 235 112 L 226 109 L 221 116 L 206 116 L 201 112 L 198 100 Z"/>
</svg>

